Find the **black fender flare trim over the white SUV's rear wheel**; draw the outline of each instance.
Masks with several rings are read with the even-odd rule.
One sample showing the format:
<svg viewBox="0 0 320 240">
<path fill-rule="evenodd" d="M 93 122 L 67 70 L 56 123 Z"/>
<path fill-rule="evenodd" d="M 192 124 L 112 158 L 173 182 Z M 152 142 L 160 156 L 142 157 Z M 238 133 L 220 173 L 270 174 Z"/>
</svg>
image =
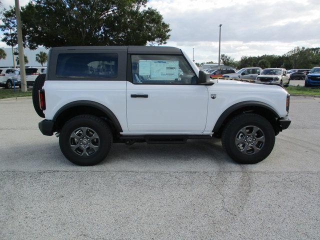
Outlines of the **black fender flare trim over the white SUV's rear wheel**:
<svg viewBox="0 0 320 240">
<path fill-rule="evenodd" d="M 114 124 L 116 130 L 118 132 L 122 132 L 122 127 L 120 125 L 120 122 L 118 121 L 118 119 L 116 118 L 114 113 L 109 108 L 107 108 L 106 106 L 104 106 L 101 103 L 98 103 L 96 101 L 89 101 L 89 100 L 71 101 L 71 102 L 63 105 L 59 110 L 57 110 L 56 113 L 54 114 L 52 120 L 55 121 L 56 118 L 63 111 L 65 111 L 65 110 L 67 110 L 67 109 L 69 109 L 71 107 L 74 107 L 74 106 L 91 106 L 91 107 L 94 107 L 94 108 L 96 108 L 98 110 L 101 110 L 112 121 L 112 123 Z"/>
</svg>

